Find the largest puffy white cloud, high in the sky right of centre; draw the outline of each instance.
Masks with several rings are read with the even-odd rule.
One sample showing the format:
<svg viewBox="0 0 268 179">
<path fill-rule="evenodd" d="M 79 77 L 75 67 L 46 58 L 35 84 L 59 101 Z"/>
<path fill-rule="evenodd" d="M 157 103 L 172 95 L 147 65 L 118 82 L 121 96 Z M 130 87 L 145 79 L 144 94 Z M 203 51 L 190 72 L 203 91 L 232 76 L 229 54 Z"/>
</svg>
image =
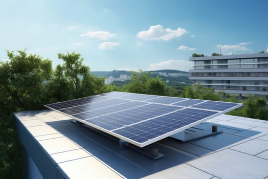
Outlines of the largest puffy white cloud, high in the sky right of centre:
<svg viewBox="0 0 268 179">
<path fill-rule="evenodd" d="M 151 26 L 147 31 L 140 31 L 137 34 L 137 37 L 144 40 L 170 40 L 180 37 L 185 33 L 186 30 L 182 28 L 178 28 L 177 30 L 172 30 L 169 28 L 163 29 L 163 26 L 156 25 Z"/>
</svg>

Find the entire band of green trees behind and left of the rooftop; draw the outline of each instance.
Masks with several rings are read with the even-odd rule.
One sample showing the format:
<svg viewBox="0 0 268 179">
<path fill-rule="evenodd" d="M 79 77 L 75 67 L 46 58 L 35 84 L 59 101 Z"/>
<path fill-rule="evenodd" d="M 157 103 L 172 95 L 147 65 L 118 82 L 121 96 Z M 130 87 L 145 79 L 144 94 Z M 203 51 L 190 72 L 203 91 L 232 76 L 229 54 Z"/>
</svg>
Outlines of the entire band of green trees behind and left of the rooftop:
<svg viewBox="0 0 268 179">
<path fill-rule="evenodd" d="M 14 111 L 43 109 L 44 104 L 81 98 L 111 91 L 216 101 L 242 102 L 244 107 L 231 115 L 268 120 L 266 100 L 250 96 L 239 101 L 213 88 L 191 85 L 170 87 L 149 72 L 132 72 L 124 86 L 105 85 L 104 78 L 90 74 L 79 53 L 58 53 L 63 61 L 55 69 L 52 60 L 23 51 L 7 51 L 9 60 L 0 62 L 0 178 L 22 177 L 22 146 L 15 127 Z M 16 171 L 16 172 L 14 172 Z"/>
</svg>

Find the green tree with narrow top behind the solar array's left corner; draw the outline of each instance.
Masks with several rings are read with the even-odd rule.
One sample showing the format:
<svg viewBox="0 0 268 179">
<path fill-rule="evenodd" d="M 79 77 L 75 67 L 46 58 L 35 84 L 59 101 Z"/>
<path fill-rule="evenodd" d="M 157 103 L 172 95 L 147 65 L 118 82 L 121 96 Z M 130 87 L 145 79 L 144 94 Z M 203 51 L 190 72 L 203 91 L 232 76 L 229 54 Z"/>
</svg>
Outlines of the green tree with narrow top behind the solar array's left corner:
<svg viewBox="0 0 268 179">
<path fill-rule="evenodd" d="M 83 64 L 79 53 L 59 53 L 64 63 L 57 65 L 52 79 L 48 82 L 47 93 L 51 102 L 81 98 L 104 93 L 104 78 L 90 75 L 90 68 Z"/>
</svg>

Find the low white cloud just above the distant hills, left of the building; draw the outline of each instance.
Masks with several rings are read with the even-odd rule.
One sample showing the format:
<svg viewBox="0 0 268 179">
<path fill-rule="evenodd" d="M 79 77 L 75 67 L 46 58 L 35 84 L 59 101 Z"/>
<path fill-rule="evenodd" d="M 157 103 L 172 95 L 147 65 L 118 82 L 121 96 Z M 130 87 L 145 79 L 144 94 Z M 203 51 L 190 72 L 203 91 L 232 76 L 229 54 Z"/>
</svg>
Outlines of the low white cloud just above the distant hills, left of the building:
<svg viewBox="0 0 268 179">
<path fill-rule="evenodd" d="M 159 63 L 152 63 L 148 71 L 154 70 L 180 70 L 188 72 L 191 69 L 192 61 L 188 60 L 172 60 L 160 61 Z"/>
</svg>

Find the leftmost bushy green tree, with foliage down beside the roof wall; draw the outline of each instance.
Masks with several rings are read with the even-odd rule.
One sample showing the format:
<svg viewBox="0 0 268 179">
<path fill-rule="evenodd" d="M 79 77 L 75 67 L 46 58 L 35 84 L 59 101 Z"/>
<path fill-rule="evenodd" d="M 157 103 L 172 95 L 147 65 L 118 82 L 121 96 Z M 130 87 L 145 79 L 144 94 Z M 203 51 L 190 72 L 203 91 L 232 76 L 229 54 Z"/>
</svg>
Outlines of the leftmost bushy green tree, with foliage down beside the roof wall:
<svg viewBox="0 0 268 179">
<path fill-rule="evenodd" d="M 9 61 L 0 62 L 0 178 L 22 177 L 22 148 L 12 112 L 41 108 L 52 74 L 51 60 L 17 52 L 7 51 Z"/>
</svg>

